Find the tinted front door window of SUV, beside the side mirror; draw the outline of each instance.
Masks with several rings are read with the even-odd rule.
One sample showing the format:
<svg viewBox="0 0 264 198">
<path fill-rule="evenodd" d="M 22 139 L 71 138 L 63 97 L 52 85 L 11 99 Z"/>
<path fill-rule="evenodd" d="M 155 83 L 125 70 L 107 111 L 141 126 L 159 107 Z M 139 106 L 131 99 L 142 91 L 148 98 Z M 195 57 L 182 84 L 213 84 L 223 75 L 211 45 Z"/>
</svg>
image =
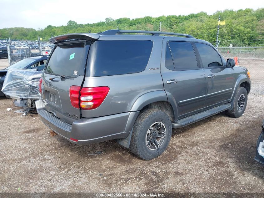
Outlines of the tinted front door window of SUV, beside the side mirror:
<svg viewBox="0 0 264 198">
<path fill-rule="evenodd" d="M 203 67 L 222 67 L 220 55 L 209 45 L 195 43 L 202 59 Z"/>
</svg>

